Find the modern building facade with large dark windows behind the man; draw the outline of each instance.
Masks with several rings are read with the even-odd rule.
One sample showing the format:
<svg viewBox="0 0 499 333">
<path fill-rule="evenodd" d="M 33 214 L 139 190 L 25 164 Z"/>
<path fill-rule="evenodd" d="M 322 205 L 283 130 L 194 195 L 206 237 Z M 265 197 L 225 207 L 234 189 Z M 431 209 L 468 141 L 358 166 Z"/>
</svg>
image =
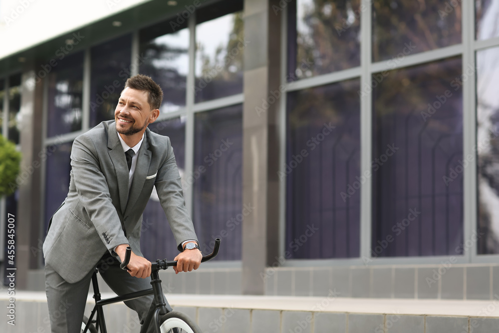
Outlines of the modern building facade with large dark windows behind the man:
<svg viewBox="0 0 499 333">
<path fill-rule="evenodd" d="M 22 288 L 39 285 L 74 138 L 143 73 L 203 252 L 222 239 L 178 291 L 499 293 L 495 1 L 95 0 L 27 32 L 51 2 L 0 7 L 1 133 L 23 154 L 1 260 L 10 213 Z M 149 260 L 175 257 L 154 193 L 142 235 Z"/>
</svg>

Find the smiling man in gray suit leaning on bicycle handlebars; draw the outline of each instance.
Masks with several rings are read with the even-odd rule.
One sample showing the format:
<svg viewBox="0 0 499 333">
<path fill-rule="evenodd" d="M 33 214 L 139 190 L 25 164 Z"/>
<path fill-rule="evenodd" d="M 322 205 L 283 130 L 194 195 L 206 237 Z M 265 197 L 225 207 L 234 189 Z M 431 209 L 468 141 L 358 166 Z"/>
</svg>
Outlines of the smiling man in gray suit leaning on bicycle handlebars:
<svg viewBox="0 0 499 333">
<path fill-rule="evenodd" d="M 161 88 L 150 77 L 133 76 L 121 92 L 114 121 L 102 122 L 73 142 L 69 192 L 52 216 L 43 244 L 52 332 L 80 332 L 96 267 L 118 295 L 151 288 L 151 263 L 140 252 L 140 231 L 153 186 L 179 251 L 194 247 L 175 258 L 175 272 L 201 264 L 170 139 L 147 129 L 158 118 L 162 99 Z M 119 269 L 127 246 L 132 248 L 128 272 Z M 151 300 L 126 304 L 143 320 Z"/>
</svg>

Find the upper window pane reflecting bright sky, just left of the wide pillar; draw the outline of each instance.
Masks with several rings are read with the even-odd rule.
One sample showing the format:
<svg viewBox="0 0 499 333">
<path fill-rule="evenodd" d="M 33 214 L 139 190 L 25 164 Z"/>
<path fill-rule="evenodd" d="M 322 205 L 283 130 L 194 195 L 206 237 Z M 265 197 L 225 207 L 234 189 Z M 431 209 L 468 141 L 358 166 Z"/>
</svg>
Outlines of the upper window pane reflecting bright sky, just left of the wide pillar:
<svg viewBox="0 0 499 333">
<path fill-rule="evenodd" d="M 242 11 L 196 25 L 196 102 L 243 92 L 244 36 Z"/>
</svg>

